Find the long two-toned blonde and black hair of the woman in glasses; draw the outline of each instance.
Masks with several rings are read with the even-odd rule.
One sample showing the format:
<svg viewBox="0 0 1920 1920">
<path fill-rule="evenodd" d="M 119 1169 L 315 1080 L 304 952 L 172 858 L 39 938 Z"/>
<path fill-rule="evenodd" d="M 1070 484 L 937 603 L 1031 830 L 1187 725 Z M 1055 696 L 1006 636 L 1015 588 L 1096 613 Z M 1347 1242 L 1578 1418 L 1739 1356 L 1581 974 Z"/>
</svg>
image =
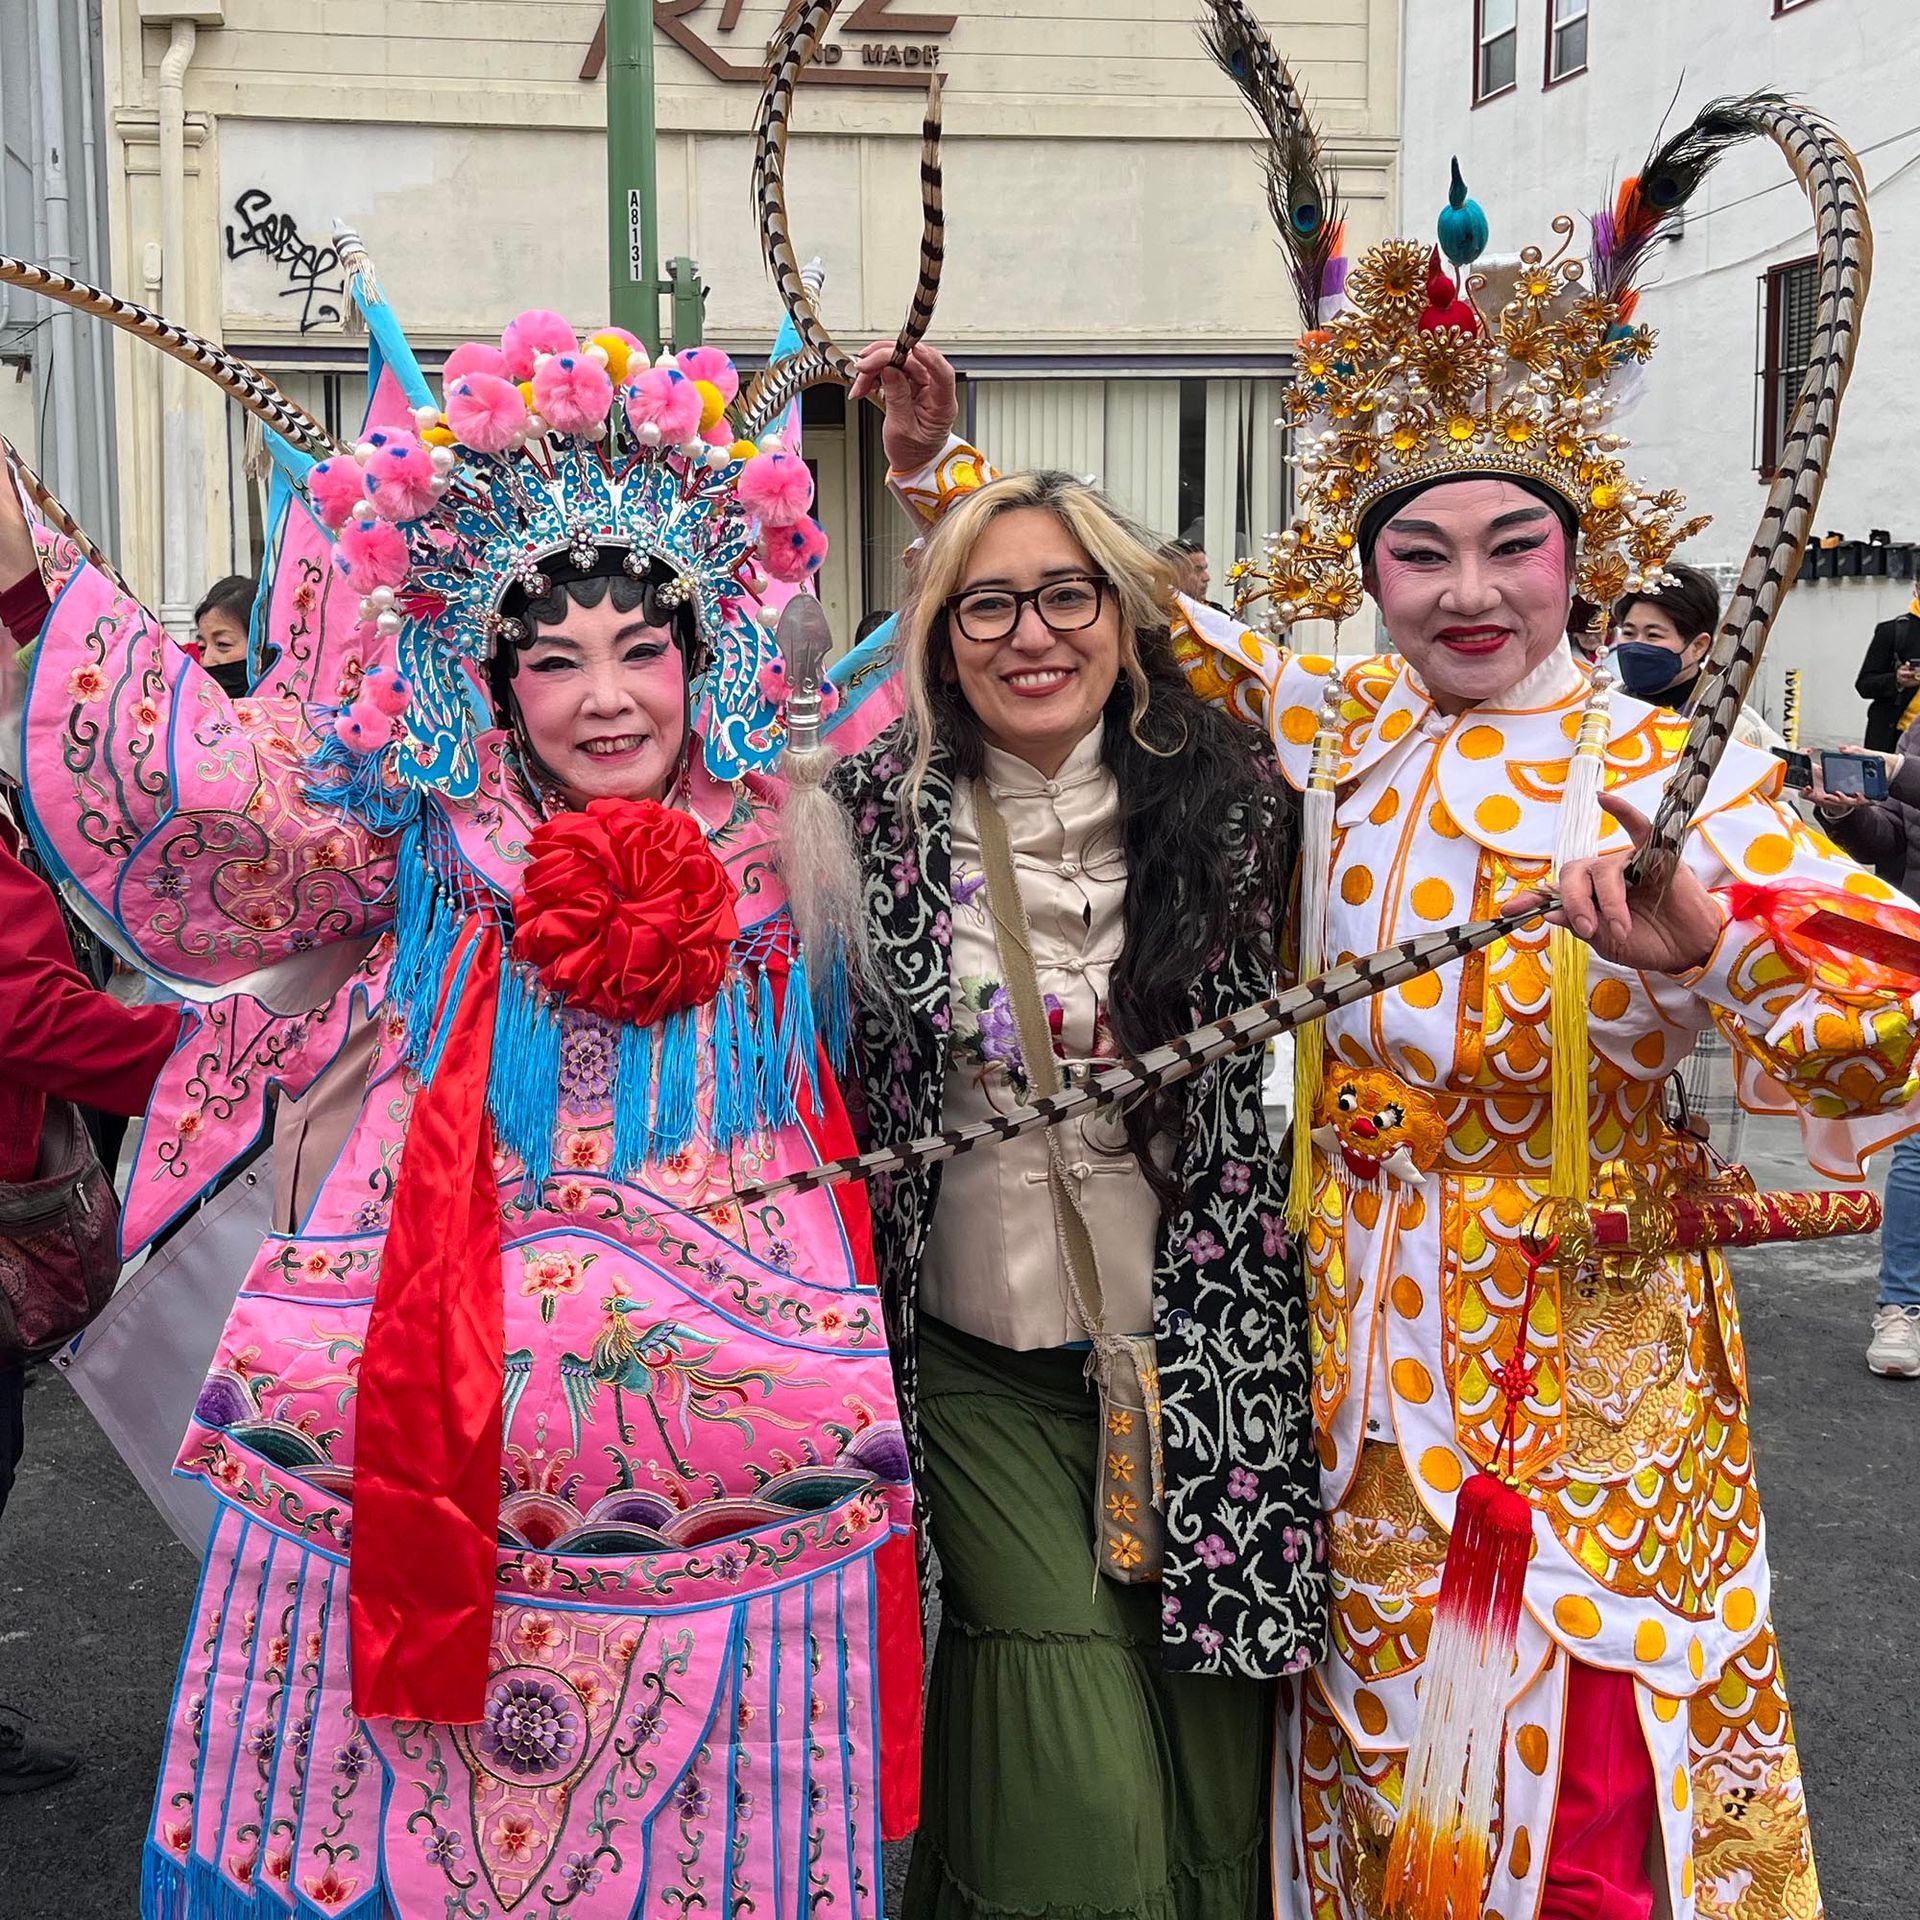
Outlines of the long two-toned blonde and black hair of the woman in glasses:
<svg viewBox="0 0 1920 1920">
<path fill-rule="evenodd" d="M 1139 1054 L 1192 1027 L 1194 991 L 1231 948 L 1252 943 L 1271 972 L 1273 912 L 1292 866 L 1290 808 L 1267 743 L 1187 684 L 1165 618 L 1171 578 L 1154 545 L 1104 493 L 1068 474 L 998 480 L 929 540 L 900 614 L 910 730 L 924 714 L 960 778 L 985 766 L 979 722 L 945 672 L 952 653 L 945 605 L 916 607 L 912 595 L 931 582 L 945 597 L 987 522 L 1016 507 L 1054 513 L 1114 582 L 1121 609 L 1121 674 L 1100 716 L 1127 856 L 1125 935 L 1106 1008 L 1114 1039 Z M 958 553 L 939 551 L 948 540 Z M 1179 1204 L 1181 1181 L 1154 1162 L 1150 1144 L 1156 1135 L 1179 1137 L 1187 1085 L 1125 1116 L 1127 1144 L 1164 1206 Z"/>
</svg>

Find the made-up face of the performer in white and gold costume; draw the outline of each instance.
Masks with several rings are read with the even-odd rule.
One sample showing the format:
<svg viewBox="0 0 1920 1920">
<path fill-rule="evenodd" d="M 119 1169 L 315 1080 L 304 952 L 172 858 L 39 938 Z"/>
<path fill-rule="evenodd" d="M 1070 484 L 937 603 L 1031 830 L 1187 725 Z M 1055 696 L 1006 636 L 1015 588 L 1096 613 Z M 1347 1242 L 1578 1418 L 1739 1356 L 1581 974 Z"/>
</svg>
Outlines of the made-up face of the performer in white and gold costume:
<svg viewBox="0 0 1920 1920">
<path fill-rule="evenodd" d="M 1367 589 L 1442 712 L 1519 685 L 1567 632 L 1572 553 L 1559 516 L 1511 480 L 1448 480 L 1382 528 Z"/>
</svg>

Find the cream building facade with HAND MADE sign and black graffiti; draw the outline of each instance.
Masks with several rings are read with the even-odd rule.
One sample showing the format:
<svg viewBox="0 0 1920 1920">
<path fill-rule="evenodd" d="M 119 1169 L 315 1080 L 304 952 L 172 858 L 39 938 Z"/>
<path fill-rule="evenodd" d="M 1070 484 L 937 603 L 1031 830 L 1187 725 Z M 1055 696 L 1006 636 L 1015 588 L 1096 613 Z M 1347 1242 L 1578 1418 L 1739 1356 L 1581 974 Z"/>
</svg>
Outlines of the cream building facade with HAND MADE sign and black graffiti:
<svg viewBox="0 0 1920 1920">
<path fill-rule="evenodd" d="M 947 77 L 935 340 L 1006 465 L 1098 476 L 1215 584 L 1286 511 L 1294 334 L 1250 123 L 1192 0 L 845 0 L 795 111 L 789 194 L 847 346 L 899 328 L 918 250 L 925 77 Z M 363 344 L 332 225 L 367 242 L 422 361 L 528 305 L 607 313 L 601 8 L 578 0 L 100 0 L 115 288 L 284 380 L 332 424 Z M 707 338 L 756 359 L 780 319 L 749 202 L 778 0 L 657 0 L 660 253 L 691 255 Z M 1352 236 L 1392 230 L 1398 0 L 1261 0 L 1311 88 Z M 240 426 L 204 382 L 115 348 L 117 553 L 173 620 L 257 551 Z M 839 632 L 899 595 L 904 522 L 874 409 L 810 397 Z"/>
</svg>

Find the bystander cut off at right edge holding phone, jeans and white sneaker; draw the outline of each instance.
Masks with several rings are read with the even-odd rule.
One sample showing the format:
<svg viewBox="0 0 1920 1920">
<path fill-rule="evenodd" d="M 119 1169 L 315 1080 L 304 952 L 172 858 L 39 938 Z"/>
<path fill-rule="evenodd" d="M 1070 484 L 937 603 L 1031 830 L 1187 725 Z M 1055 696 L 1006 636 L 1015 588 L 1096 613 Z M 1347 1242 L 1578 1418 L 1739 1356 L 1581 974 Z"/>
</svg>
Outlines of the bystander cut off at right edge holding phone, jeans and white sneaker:
<svg viewBox="0 0 1920 1920">
<path fill-rule="evenodd" d="M 1920 680 L 1914 685 L 1920 687 Z M 1859 793 L 1834 793 L 1820 778 L 1822 755 L 1812 756 L 1814 783 L 1809 799 L 1822 831 L 1843 852 L 1870 866 L 1901 893 L 1920 893 L 1920 720 L 1901 733 L 1897 753 L 1870 756 L 1885 762 L 1884 801 L 1870 801 Z M 1880 1229 L 1880 1298 L 1874 1304 L 1866 1365 L 1889 1380 L 1916 1380 L 1920 1379 L 1920 1135 L 1905 1135 L 1893 1142 L 1885 1208 Z"/>
</svg>

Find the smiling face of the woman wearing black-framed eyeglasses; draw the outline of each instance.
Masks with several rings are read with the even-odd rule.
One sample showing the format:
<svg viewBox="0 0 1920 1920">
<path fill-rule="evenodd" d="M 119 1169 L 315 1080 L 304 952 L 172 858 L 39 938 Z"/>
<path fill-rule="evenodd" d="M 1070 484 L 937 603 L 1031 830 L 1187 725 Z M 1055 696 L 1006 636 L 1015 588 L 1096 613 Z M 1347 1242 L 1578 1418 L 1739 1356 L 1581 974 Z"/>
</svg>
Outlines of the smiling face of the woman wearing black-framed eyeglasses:
<svg viewBox="0 0 1920 1920">
<path fill-rule="evenodd" d="M 987 522 L 948 599 L 950 674 L 983 739 L 1048 778 L 1100 724 L 1119 678 L 1119 605 L 1110 588 L 1094 586 L 1098 576 L 1092 557 L 1052 513 L 1010 507 Z M 1075 582 L 1085 584 L 1079 599 Z M 1048 586 L 1060 620 L 1079 618 L 1085 595 L 1096 593 L 1092 622 L 1058 632 L 1029 599 L 1004 639 L 970 639 L 962 630 L 964 616 L 975 632 L 991 632 L 996 607 Z M 964 614 L 956 607 L 962 595 L 970 595 Z"/>
</svg>

